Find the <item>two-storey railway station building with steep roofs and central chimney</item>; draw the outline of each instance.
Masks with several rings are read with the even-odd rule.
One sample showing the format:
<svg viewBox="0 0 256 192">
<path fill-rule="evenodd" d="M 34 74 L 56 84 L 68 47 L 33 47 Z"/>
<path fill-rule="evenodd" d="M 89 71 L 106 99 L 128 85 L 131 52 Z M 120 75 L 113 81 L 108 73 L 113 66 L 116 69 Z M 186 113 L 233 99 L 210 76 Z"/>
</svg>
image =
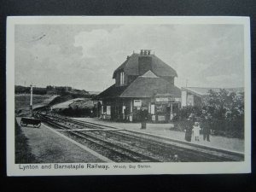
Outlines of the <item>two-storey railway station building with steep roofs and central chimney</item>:
<svg viewBox="0 0 256 192">
<path fill-rule="evenodd" d="M 133 53 L 113 72 L 115 84 L 98 96 L 97 116 L 102 119 L 169 122 L 181 108 L 181 90 L 174 84 L 177 72 L 150 50 Z"/>
</svg>

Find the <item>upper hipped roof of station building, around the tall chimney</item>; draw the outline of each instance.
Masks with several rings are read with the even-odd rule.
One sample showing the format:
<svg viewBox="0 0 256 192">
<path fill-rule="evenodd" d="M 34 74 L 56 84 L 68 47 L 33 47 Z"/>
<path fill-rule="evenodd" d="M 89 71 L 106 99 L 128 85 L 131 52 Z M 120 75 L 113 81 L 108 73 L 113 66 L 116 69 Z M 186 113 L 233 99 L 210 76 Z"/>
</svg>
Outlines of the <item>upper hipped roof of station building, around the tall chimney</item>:
<svg viewBox="0 0 256 192">
<path fill-rule="evenodd" d="M 126 61 L 122 63 L 114 72 L 113 79 L 118 71 L 123 70 L 127 75 L 139 75 L 138 64 L 140 54 L 132 54 L 127 57 Z M 145 56 L 145 55 L 142 55 Z M 152 72 L 159 77 L 177 77 L 176 71 L 167 65 L 164 61 L 161 61 L 156 55 L 146 55 L 152 58 Z"/>
</svg>

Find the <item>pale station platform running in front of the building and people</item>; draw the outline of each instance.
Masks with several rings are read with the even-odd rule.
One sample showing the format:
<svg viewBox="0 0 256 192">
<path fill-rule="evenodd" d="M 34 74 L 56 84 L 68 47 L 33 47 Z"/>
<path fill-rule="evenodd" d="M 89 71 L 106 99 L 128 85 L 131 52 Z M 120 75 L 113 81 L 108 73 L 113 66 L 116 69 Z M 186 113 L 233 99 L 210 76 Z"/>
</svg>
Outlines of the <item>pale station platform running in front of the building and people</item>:
<svg viewBox="0 0 256 192">
<path fill-rule="evenodd" d="M 172 124 L 150 124 L 147 123 L 147 129 L 141 129 L 140 123 L 119 123 L 113 121 L 107 121 L 97 118 L 73 118 L 88 121 L 91 123 L 102 124 L 113 126 L 119 129 L 131 130 L 145 132 L 160 137 L 167 137 L 171 139 L 185 141 L 185 132 L 183 131 L 173 131 L 171 129 Z M 204 141 L 203 136 L 200 136 L 200 141 L 195 141 L 195 138 L 192 137 L 191 143 L 196 143 L 199 145 L 204 145 L 212 148 L 221 148 L 224 150 L 236 151 L 244 153 L 244 140 L 238 138 L 229 138 L 229 137 L 220 137 L 220 136 L 210 136 L 210 142 Z"/>
</svg>

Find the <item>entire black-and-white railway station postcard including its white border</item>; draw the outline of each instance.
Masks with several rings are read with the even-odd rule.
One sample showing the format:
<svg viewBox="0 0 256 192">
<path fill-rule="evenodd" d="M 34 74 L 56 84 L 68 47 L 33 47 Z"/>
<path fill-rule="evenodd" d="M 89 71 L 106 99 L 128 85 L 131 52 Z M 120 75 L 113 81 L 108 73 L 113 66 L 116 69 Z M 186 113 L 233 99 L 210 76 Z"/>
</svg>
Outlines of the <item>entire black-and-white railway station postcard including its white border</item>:
<svg viewBox="0 0 256 192">
<path fill-rule="evenodd" d="M 9 176 L 251 172 L 250 19 L 7 19 Z"/>
</svg>

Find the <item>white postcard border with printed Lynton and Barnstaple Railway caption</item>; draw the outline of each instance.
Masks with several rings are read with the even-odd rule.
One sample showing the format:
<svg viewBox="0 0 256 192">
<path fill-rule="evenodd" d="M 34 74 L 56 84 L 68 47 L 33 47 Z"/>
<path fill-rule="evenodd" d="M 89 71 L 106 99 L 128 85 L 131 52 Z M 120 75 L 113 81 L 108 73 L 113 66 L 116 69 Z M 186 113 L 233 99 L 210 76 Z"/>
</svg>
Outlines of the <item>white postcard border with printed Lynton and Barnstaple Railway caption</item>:
<svg viewBox="0 0 256 192">
<path fill-rule="evenodd" d="M 200 163 L 97 163 L 108 165 L 108 170 L 84 169 L 27 169 L 23 171 L 15 164 L 15 25 L 17 24 L 237 24 L 244 26 L 245 63 L 245 160 L 242 162 L 200 162 Z M 250 20 L 248 17 L 169 17 L 169 16 L 17 16 L 7 19 L 6 54 L 6 100 L 7 100 L 7 174 L 8 176 L 46 176 L 46 175 L 134 175 L 134 174 L 217 174 L 251 172 L 251 55 Z M 93 164 L 93 163 L 91 163 Z M 55 164 L 29 164 L 30 166 L 55 166 Z M 28 166 L 29 166 L 28 165 Z M 65 165 L 65 164 L 59 164 Z M 150 168 L 114 169 L 113 165 L 139 166 Z M 21 164 L 26 166 L 26 164 Z"/>
</svg>

